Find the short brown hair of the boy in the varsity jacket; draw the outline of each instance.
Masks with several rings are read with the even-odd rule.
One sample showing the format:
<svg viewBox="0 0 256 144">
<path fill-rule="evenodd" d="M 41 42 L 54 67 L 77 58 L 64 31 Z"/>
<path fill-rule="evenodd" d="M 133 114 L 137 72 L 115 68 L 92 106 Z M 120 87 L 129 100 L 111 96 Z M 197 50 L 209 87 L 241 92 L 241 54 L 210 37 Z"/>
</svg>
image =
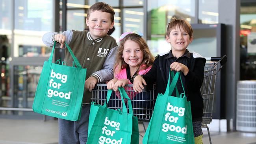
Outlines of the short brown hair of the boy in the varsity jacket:
<svg viewBox="0 0 256 144">
<path fill-rule="evenodd" d="M 111 22 L 114 21 L 115 11 L 114 11 L 113 7 L 109 6 L 108 4 L 106 4 L 104 2 L 97 2 L 97 3 L 93 4 L 91 7 L 89 7 L 89 9 L 87 11 L 87 19 L 89 19 L 90 13 L 93 11 L 102 11 L 102 12 L 110 13 L 111 14 Z"/>
</svg>

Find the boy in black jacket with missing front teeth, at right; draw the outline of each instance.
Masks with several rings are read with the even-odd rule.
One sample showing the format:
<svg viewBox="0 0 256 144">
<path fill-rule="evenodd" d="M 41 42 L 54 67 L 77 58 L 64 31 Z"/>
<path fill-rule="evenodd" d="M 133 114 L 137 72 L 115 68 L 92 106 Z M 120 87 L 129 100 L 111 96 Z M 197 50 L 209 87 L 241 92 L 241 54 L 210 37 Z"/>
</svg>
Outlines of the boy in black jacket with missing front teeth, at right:
<svg viewBox="0 0 256 144">
<path fill-rule="evenodd" d="M 174 73 L 182 72 L 182 83 L 185 84 L 185 93 L 191 102 L 195 144 L 202 144 L 203 101 L 200 88 L 204 79 L 206 59 L 187 50 L 187 46 L 193 40 L 192 33 L 191 25 L 186 20 L 173 18 L 173 21 L 168 24 L 165 37 L 166 41 L 171 44 L 169 54 L 158 55 L 147 74 L 135 77 L 134 90 L 141 92 L 143 84 L 156 82 L 157 93 L 163 94 L 167 87 L 170 68 L 174 70 Z M 179 93 L 182 93 L 180 81 L 178 81 L 177 87 Z"/>
</svg>

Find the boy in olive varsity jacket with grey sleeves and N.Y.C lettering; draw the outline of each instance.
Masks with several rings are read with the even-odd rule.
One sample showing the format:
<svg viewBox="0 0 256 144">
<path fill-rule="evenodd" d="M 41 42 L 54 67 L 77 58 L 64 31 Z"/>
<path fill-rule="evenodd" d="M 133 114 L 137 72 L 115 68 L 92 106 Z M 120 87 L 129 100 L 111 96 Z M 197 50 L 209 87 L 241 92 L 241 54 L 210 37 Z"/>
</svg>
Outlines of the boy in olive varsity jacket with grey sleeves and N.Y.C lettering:
<svg viewBox="0 0 256 144">
<path fill-rule="evenodd" d="M 89 31 L 70 30 L 43 35 L 42 39 L 46 46 L 53 46 L 54 41 L 57 41 L 63 48 L 66 42 L 82 67 L 87 68 L 81 119 L 73 122 L 59 118 L 59 144 L 85 144 L 87 141 L 91 90 L 96 83 L 113 78 L 117 43 L 107 33 L 114 26 L 114 15 L 113 7 L 98 2 L 87 12 L 86 24 Z M 72 61 L 71 55 L 66 51 L 67 66 L 72 66 Z"/>
</svg>

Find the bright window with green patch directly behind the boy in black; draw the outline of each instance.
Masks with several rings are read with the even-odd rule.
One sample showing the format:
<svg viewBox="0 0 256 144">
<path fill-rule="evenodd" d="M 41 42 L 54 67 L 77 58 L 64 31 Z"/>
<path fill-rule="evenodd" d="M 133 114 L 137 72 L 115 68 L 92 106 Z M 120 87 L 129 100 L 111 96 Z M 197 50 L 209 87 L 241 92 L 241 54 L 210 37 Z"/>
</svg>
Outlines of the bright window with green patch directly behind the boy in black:
<svg viewBox="0 0 256 144">
<path fill-rule="evenodd" d="M 172 17 L 195 23 L 195 0 L 152 0 L 148 2 L 147 43 L 154 55 L 169 52 L 165 41 L 167 24 Z"/>
</svg>

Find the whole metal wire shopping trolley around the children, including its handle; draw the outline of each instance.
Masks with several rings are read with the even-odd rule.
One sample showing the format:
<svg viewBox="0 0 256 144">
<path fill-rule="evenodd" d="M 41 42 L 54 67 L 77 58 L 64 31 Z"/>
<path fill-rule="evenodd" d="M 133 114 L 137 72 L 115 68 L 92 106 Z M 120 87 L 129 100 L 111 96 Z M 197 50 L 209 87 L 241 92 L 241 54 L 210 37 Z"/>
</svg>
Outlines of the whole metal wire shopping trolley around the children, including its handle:
<svg viewBox="0 0 256 144">
<path fill-rule="evenodd" d="M 210 57 L 206 58 L 206 60 L 207 63 L 204 67 L 204 81 L 201 87 L 201 93 L 204 102 L 204 116 L 202 120 L 202 127 L 207 128 L 211 144 L 210 131 L 207 125 L 210 124 L 212 119 L 215 81 L 218 72 L 223 67 L 223 64 L 226 63 L 227 57 Z M 133 99 L 131 100 L 134 116 L 137 116 L 138 122 L 140 124 L 143 124 L 143 128 L 146 131 L 144 122 L 149 122 L 153 114 L 154 104 L 156 102 L 157 96 L 155 91 L 156 85 L 147 85 L 145 86 L 143 92 L 140 93 L 134 92 L 133 85 L 126 85 L 124 89 L 126 90 L 129 96 L 134 96 Z M 106 84 L 97 84 L 95 89 L 93 89 L 92 101 L 96 104 L 103 105 L 107 97 L 107 92 L 108 89 Z M 108 108 L 122 108 L 122 101 L 121 99 L 117 98 L 117 94 L 115 92 L 112 92 L 111 97 L 109 99 Z"/>
</svg>

